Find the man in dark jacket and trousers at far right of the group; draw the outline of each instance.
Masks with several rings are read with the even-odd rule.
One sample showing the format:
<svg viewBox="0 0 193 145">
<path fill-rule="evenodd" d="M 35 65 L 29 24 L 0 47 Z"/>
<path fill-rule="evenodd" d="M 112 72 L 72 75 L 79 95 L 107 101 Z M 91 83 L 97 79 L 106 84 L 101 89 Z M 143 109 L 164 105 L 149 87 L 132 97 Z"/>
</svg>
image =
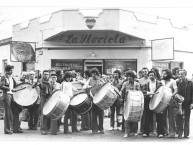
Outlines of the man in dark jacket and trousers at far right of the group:
<svg viewBox="0 0 193 145">
<path fill-rule="evenodd" d="M 184 131 L 184 138 L 189 138 L 190 132 L 190 112 L 193 108 L 193 82 L 187 79 L 187 72 L 184 69 L 179 70 L 179 76 L 181 82 L 178 85 L 178 94 L 184 98 L 182 103 L 182 112 L 184 112 L 184 118 L 182 113 L 177 114 L 177 128 L 178 128 L 178 138 L 182 138 Z"/>
</svg>

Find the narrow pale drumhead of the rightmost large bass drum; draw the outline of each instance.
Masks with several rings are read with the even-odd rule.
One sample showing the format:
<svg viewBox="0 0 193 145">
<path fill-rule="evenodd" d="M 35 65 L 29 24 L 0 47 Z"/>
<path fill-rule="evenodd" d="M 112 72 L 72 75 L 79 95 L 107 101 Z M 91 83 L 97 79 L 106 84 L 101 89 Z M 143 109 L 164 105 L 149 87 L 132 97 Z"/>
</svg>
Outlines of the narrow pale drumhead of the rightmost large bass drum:
<svg viewBox="0 0 193 145">
<path fill-rule="evenodd" d="M 164 86 L 161 86 L 158 88 L 158 90 L 155 92 L 158 94 L 155 94 L 152 96 L 150 103 L 149 103 L 149 109 L 154 110 L 160 103 L 162 97 L 164 96 Z"/>
</svg>

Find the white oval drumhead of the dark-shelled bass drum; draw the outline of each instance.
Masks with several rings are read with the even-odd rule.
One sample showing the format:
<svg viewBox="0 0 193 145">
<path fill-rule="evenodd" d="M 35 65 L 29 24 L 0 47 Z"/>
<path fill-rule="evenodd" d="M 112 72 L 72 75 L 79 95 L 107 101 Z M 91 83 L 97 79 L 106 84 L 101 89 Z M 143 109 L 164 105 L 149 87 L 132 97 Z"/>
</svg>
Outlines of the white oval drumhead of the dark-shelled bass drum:
<svg viewBox="0 0 193 145">
<path fill-rule="evenodd" d="M 86 98 L 87 98 L 87 94 L 85 94 L 85 93 L 78 94 L 72 98 L 72 100 L 70 101 L 70 105 L 72 105 L 72 106 L 79 105 L 82 102 L 84 102 L 84 100 L 86 100 Z"/>
</svg>

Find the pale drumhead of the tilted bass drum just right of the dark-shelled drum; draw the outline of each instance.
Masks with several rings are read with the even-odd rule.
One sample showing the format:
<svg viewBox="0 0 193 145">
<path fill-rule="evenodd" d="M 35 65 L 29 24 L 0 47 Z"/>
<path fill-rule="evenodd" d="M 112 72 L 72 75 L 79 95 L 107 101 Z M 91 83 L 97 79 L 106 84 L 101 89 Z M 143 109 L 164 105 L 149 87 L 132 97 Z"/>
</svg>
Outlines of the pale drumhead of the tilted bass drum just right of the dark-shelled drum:
<svg viewBox="0 0 193 145">
<path fill-rule="evenodd" d="M 110 89 L 109 83 L 102 86 L 100 88 L 100 90 L 96 93 L 96 95 L 94 96 L 93 103 L 96 104 L 96 103 L 100 102 L 103 99 L 103 97 L 106 95 L 108 89 Z"/>
</svg>

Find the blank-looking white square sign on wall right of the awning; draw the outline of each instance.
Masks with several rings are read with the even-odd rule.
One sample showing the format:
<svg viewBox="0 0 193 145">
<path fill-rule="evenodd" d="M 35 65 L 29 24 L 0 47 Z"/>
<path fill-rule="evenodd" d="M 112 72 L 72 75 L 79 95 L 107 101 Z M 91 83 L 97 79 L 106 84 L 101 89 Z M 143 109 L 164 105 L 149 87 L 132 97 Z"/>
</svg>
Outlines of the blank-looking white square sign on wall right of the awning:
<svg viewBox="0 0 193 145">
<path fill-rule="evenodd" d="M 151 41 L 152 60 L 174 59 L 174 38 L 155 39 Z"/>
</svg>

